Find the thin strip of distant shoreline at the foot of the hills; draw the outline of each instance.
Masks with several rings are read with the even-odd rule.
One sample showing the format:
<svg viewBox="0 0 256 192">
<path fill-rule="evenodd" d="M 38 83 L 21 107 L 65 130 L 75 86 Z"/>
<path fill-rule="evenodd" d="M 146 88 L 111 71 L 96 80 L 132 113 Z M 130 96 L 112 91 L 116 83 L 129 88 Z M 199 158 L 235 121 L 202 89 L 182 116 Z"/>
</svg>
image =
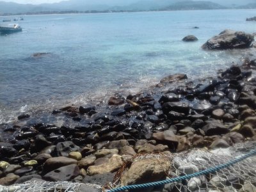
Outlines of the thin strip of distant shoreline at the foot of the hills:
<svg viewBox="0 0 256 192">
<path fill-rule="evenodd" d="M 254 10 L 255 8 L 223 8 L 223 9 L 180 9 L 180 10 L 106 10 L 106 11 L 61 11 L 61 12 L 26 12 L 26 13 L 0 13 L 0 16 L 8 17 L 8 16 L 20 16 L 20 15 L 63 15 L 63 14 L 86 14 L 86 13 L 136 13 L 136 12 L 172 12 L 172 11 L 198 11 L 198 10 Z"/>
</svg>

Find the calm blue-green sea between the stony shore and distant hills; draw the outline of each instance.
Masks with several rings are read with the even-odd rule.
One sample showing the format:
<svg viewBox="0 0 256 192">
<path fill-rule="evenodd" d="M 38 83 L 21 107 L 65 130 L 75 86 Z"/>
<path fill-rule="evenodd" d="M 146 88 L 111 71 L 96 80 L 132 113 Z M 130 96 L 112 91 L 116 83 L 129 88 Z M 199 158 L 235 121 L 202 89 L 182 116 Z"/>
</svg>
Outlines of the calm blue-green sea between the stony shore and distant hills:
<svg viewBox="0 0 256 192">
<path fill-rule="evenodd" d="M 246 22 L 255 12 L 24 15 L 22 32 L 0 36 L 0 124 L 23 112 L 136 93 L 170 74 L 214 76 L 241 62 L 243 50 L 204 51 L 201 45 L 224 29 L 255 33 L 256 22 Z M 186 35 L 199 40 L 182 42 Z"/>
</svg>

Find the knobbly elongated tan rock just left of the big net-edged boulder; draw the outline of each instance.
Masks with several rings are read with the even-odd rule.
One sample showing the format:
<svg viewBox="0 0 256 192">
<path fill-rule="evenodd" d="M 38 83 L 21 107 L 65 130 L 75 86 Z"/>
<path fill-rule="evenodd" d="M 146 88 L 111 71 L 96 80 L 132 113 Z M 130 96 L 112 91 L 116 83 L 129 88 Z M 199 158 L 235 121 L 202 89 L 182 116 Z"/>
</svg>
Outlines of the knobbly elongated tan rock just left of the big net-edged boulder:
<svg viewBox="0 0 256 192">
<path fill-rule="evenodd" d="M 113 155 L 107 163 L 100 164 L 98 166 L 89 166 L 87 173 L 88 175 L 97 175 L 108 172 L 115 172 L 123 164 L 121 156 Z"/>
</svg>

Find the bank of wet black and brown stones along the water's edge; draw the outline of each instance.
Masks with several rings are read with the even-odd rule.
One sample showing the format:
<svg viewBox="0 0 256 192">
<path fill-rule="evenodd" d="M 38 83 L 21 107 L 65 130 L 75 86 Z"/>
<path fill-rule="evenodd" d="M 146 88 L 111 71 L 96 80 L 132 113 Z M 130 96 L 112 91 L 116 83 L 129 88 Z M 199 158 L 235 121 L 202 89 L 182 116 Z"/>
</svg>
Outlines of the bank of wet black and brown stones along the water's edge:
<svg viewBox="0 0 256 192">
<path fill-rule="evenodd" d="M 64 120 L 61 125 L 40 119 L 29 122 L 32 116 L 22 114 L 17 122 L 0 125 L 0 185 L 29 180 L 104 186 L 124 164 L 122 184 L 152 182 L 165 179 L 172 163 L 164 157 L 133 163 L 129 159 L 256 140 L 255 68 L 252 56 L 209 79 L 189 81 L 186 74 L 173 74 L 161 79 L 152 92 L 115 94 L 107 106 L 52 111 L 54 119 Z M 89 191 L 93 190 L 99 191 Z"/>
</svg>

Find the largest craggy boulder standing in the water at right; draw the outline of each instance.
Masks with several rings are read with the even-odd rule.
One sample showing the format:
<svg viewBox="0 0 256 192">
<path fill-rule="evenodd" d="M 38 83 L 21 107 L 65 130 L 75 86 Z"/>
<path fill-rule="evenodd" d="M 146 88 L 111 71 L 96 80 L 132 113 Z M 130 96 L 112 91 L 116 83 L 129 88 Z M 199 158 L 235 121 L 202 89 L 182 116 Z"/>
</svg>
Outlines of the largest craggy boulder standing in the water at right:
<svg viewBox="0 0 256 192">
<path fill-rule="evenodd" d="M 253 35 L 243 31 L 232 31 L 226 29 L 220 35 L 214 36 L 202 45 L 203 49 L 244 49 L 250 47 L 254 40 Z"/>
</svg>

